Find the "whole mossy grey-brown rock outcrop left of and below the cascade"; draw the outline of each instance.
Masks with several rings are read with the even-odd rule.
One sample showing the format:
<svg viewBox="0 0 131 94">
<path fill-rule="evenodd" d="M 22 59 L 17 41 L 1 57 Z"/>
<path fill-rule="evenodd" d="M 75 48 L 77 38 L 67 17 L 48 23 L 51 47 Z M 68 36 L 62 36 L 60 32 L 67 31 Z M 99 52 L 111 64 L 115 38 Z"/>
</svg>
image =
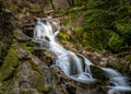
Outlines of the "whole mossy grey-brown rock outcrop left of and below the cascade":
<svg viewBox="0 0 131 94">
<path fill-rule="evenodd" d="M 43 52 L 43 58 L 46 59 L 45 62 L 41 61 L 25 49 L 23 44 L 28 38 L 21 34 L 14 35 L 16 39 L 11 45 L 0 69 L 1 94 L 81 94 L 82 92 L 95 94 L 99 90 L 105 94 L 108 90 L 99 82 L 88 84 L 75 82 L 66 77 L 59 68 L 49 67 L 55 56 L 52 54 L 50 56 L 45 49 L 40 50 L 39 54 Z"/>
</svg>

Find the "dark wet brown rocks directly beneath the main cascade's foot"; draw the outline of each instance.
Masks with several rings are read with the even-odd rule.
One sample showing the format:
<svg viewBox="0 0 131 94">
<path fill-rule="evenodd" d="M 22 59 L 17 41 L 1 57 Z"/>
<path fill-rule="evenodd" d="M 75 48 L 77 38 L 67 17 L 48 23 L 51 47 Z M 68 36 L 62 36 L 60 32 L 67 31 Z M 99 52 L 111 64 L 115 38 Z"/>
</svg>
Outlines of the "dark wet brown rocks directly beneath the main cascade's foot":
<svg viewBox="0 0 131 94">
<path fill-rule="evenodd" d="M 109 90 L 107 86 L 102 86 L 105 83 L 102 81 L 95 83 L 81 83 L 68 78 L 58 67 L 52 67 L 53 84 L 57 85 L 57 91 L 60 94 L 106 94 Z M 99 73 L 99 72 L 98 72 Z"/>
</svg>

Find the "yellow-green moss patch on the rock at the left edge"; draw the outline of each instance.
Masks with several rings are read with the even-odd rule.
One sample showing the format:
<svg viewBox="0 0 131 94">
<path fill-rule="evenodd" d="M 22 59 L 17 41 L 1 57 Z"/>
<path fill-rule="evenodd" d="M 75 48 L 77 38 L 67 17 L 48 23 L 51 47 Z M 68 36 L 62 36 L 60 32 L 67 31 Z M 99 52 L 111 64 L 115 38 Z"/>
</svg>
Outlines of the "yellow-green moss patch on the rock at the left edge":
<svg viewBox="0 0 131 94">
<path fill-rule="evenodd" d="M 11 46 L 0 70 L 0 80 L 5 81 L 13 78 L 19 66 L 19 58 L 14 45 Z"/>
</svg>

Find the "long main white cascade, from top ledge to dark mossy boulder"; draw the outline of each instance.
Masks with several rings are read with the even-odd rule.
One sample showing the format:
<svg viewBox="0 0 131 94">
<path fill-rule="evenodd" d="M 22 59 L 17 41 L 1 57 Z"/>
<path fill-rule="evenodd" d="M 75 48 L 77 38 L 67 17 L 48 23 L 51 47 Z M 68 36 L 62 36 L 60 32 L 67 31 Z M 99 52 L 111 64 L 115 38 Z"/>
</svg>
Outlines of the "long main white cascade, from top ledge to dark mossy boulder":
<svg viewBox="0 0 131 94">
<path fill-rule="evenodd" d="M 45 37 L 48 37 L 48 49 L 55 52 L 57 57 L 55 64 L 59 66 L 68 77 L 76 81 L 93 81 L 94 79 L 92 78 L 92 73 L 88 67 L 91 62 L 85 59 L 85 68 L 83 69 L 82 60 L 74 52 L 64 49 L 56 42 L 55 37 L 57 34 L 58 32 L 52 33 L 52 28 L 49 22 L 40 19 L 37 20 L 34 28 L 34 38 L 47 42 Z"/>
</svg>

